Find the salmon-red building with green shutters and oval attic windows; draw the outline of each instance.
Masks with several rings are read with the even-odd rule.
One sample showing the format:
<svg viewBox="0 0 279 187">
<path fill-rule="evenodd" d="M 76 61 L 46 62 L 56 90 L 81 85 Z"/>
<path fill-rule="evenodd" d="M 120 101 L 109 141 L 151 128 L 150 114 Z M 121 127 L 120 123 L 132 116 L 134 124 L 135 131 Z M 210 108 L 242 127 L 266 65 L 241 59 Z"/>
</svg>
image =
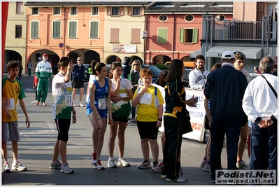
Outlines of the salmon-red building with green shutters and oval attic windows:
<svg viewBox="0 0 279 187">
<path fill-rule="evenodd" d="M 231 20 L 232 2 L 157 2 L 146 11 L 145 64 L 191 61 L 201 54 L 203 14 Z M 190 56 L 192 53 L 192 57 Z"/>
</svg>

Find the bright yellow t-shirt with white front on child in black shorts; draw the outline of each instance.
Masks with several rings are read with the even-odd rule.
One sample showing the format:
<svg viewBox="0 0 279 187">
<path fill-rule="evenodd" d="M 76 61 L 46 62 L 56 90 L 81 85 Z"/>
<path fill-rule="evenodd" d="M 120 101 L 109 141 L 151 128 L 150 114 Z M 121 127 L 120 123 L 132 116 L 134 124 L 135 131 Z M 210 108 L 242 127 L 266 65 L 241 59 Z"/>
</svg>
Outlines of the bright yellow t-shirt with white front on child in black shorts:
<svg viewBox="0 0 279 187">
<path fill-rule="evenodd" d="M 155 122 L 158 120 L 158 106 L 164 104 L 164 98 L 162 97 L 162 93 L 160 92 L 160 90 L 157 88 L 157 95 L 155 95 L 155 88 L 156 87 L 152 85 L 150 88 L 148 88 L 148 91 L 141 96 L 136 109 L 136 118 L 138 121 Z M 136 95 L 138 94 L 138 89 L 136 89 L 134 97 L 136 97 Z"/>
</svg>

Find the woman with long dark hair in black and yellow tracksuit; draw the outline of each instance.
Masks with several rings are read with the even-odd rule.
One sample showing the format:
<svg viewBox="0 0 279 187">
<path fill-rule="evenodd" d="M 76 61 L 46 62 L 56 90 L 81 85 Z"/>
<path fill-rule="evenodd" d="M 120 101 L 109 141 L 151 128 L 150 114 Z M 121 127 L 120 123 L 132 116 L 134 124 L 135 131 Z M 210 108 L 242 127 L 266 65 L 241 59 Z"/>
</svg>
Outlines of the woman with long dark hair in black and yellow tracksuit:
<svg viewBox="0 0 279 187">
<path fill-rule="evenodd" d="M 164 143 L 164 169 L 162 178 L 168 182 L 185 182 L 186 178 L 179 175 L 180 163 L 178 155 L 182 143 L 182 131 L 176 117 L 176 111 L 182 111 L 186 104 L 194 105 L 194 95 L 185 101 L 185 88 L 183 83 L 184 64 L 182 60 L 175 59 L 171 61 L 169 73 L 166 76 L 165 102 L 166 110 L 164 112 L 164 130 L 166 141 Z"/>
</svg>

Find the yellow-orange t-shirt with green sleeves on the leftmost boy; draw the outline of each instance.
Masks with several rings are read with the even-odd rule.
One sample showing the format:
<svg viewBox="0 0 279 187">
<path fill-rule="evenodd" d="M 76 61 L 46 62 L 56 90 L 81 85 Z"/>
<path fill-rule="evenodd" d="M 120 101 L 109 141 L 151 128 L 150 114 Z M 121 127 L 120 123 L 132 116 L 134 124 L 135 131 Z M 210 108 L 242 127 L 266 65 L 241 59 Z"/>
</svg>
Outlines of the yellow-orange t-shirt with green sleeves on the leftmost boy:
<svg viewBox="0 0 279 187">
<path fill-rule="evenodd" d="M 25 97 L 22 83 L 15 79 L 10 81 L 8 77 L 2 79 L 2 107 L 7 107 L 12 118 L 8 119 L 2 110 L 2 121 L 12 122 L 17 120 L 17 101 Z"/>
</svg>

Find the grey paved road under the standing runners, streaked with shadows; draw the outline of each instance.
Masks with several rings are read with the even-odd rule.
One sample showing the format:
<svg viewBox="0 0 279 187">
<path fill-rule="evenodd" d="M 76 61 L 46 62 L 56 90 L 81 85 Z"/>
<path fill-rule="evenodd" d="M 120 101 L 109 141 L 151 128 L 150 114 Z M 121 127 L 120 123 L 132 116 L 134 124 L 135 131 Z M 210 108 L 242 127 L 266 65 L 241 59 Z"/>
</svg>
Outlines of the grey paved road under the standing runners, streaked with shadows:
<svg viewBox="0 0 279 187">
<path fill-rule="evenodd" d="M 6 74 L 3 74 L 6 76 Z M 52 148 L 57 137 L 57 130 L 52 119 L 52 95 L 49 90 L 46 103 L 48 106 L 34 106 L 34 90 L 31 88 L 33 76 L 22 76 L 22 83 L 26 98 L 31 127 L 27 129 L 24 125 L 24 114 L 18 104 L 19 116 L 19 160 L 28 169 L 25 172 L 12 171 L 2 174 L 2 185 L 4 186 L 55 186 L 55 185 L 138 185 L 138 186 L 162 186 L 162 185 L 190 185 L 204 186 L 213 185 L 210 180 L 210 172 L 203 172 L 199 167 L 203 159 L 205 144 L 199 144 L 196 140 L 183 139 L 181 162 L 184 176 L 188 181 L 185 183 L 167 183 L 161 179 L 159 173 L 151 169 L 138 169 L 137 166 L 143 162 L 140 138 L 136 125 L 127 127 L 124 155 L 131 163 L 131 167 L 117 167 L 116 169 L 106 167 L 108 160 L 108 134 L 101 153 L 101 162 L 106 167 L 104 170 L 93 169 L 90 164 L 92 154 L 92 125 L 87 118 L 85 108 L 77 107 L 78 122 L 71 125 L 67 155 L 69 166 L 74 169 L 74 174 L 62 174 L 59 169 L 49 169 L 52 159 Z M 86 85 L 87 87 L 87 85 Z M 78 98 L 78 97 L 77 97 Z M 85 100 L 85 99 L 84 99 Z M 77 102 L 77 101 L 76 101 Z M 159 132 L 159 135 L 162 134 Z M 161 141 L 159 142 L 159 161 L 162 161 Z M 117 140 L 115 141 L 117 144 Z M 117 147 L 115 148 L 115 160 L 117 159 Z M 151 155 L 151 153 L 150 153 Z M 12 151 L 8 143 L 8 160 L 12 162 Z M 247 151 L 244 160 L 248 161 Z M 227 166 L 227 153 L 222 151 L 222 165 Z"/>
</svg>

